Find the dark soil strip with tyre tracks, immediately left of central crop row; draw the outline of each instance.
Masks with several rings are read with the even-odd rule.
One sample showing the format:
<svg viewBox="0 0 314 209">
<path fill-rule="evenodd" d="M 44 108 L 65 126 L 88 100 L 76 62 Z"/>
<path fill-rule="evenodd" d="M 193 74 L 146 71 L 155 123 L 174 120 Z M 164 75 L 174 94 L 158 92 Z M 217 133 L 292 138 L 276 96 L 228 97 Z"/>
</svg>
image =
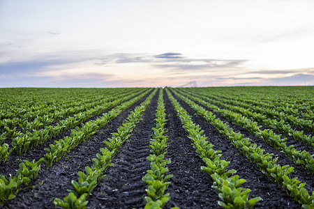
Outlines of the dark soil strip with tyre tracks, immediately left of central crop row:
<svg viewBox="0 0 314 209">
<path fill-rule="evenodd" d="M 150 154 L 149 139 L 155 125 L 155 112 L 158 103 L 158 92 L 151 104 L 144 111 L 142 121 L 138 123 L 130 138 L 114 157 L 114 167 L 106 171 L 106 176 L 89 196 L 88 208 L 144 208 L 146 183 L 142 177 L 150 169 L 146 157 Z M 106 140 L 106 139 L 103 139 Z"/>
</svg>

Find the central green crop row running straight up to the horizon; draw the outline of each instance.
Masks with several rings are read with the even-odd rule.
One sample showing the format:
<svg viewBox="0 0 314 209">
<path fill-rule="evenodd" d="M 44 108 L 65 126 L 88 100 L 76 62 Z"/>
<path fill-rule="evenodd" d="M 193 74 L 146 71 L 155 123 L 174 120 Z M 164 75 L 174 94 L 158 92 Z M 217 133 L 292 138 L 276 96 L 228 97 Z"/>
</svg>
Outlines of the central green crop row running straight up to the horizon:
<svg viewBox="0 0 314 209">
<path fill-rule="evenodd" d="M 165 136 L 165 104 L 163 103 L 163 89 L 160 88 L 158 97 L 158 107 L 156 110 L 156 127 L 153 127 L 154 134 L 149 141 L 151 148 L 151 155 L 147 157 L 147 160 L 151 162 L 151 169 L 147 171 L 147 174 L 142 180 L 147 183 L 146 189 L 147 195 L 144 199 L 147 202 L 145 208 L 163 208 L 167 201 L 170 200 L 169 194 L 165 194 L 165 190 L 170 185 L 167 182 L 173 175 L 166 175 L 169 169 L 167 164 L 171 163 L 170 160 L 165 160 L 165 154 L 167 153 L 167 137 Z"/>
</svg>

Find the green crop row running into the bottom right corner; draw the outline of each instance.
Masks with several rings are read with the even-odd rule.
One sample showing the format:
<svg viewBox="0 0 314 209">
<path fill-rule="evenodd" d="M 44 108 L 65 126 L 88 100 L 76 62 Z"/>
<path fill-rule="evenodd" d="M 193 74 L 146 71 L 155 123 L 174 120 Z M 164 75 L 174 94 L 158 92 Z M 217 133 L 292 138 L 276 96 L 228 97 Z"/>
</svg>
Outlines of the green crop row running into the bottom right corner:
<svg viewBox="0 0 314 209">
<path fill-rule="evenodd" d="M 251 162 L 254 162 L 271 181 L 278 183 L 280 187 L 285 189 L 288 196 L 292 196 L 294 200 L 301 203 L 304 208 L 314 207 L 314 191 L 311 195 L 308 194 L 308 191 L 304 188 L 306 183 L 300 183 L 297 178 L 290 178 L 290 175 L 294 171 L 293 167 L 276 164 L 278 157 L 273 159 L 272 153 L 264 154 L 264 150 L 260 146 L 251 143 L 250 139 L 244 138 L 244 135 L 240 132 L 234 132 L 227 123 L 216 119 L 216 116 L 210 111 L 200 107 L 183 95 L 176 92 L 174 93 L 184 100 L 197 114 L 216 127 L 216 129 L 225 136 L 225 139 L 237 147 Z"/>
</svg>

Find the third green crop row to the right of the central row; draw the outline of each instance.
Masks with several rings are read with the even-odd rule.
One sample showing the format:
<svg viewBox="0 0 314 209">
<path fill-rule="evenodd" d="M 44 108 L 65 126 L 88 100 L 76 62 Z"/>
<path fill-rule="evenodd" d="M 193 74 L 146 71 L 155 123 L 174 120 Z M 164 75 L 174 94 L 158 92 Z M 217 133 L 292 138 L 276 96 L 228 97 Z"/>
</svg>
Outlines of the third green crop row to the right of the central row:
<svg viewBox="0 0 314 209">
<path fill-rule="evenodd" d="M 270 146 L 276 148 L 281 153 L 284 153 L 292 162 L 297 164 L 301 164 L 304 169 L 310 171 L 310 173 L 314 173 L 314 159 L 313 156 L 308 153 L 306 150 L 300 151 L 296 150 L 293 145 L 287 146 L 286 139 L 282 139 L 280 135 L 275 134 L 272 130 L 265 129 L 260 130 L 260 126 L 257 125 L 256 122 L 251 121 L 250 119 L 242 116 L 241 114 L 236 114 L 227 109 L 219 109 L 213 104 L 209 104 L 200 98 L 195 98 L 192 95 L 189 95 L 188 98 L 191 98 L 195 102 L 198 102 L 209 109 L 221 114 L 228 120 L 244 127 L 244 129 L 248 130 L 252 134 L 254 134 L 259 139 L 262 139 Z"/>
</svg>

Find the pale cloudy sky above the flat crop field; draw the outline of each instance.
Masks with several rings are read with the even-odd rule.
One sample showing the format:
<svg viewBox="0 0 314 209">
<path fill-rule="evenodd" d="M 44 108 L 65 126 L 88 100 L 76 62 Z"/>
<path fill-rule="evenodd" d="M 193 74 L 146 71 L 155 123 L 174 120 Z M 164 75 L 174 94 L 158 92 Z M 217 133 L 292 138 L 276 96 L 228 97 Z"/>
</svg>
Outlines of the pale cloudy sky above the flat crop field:
<svg viewBox="0 0 314 209">
<path fill-rule="evenodd" d="M 313 0 L 0 0 L 0 87 L 314 85 Z"/>
</svg>

